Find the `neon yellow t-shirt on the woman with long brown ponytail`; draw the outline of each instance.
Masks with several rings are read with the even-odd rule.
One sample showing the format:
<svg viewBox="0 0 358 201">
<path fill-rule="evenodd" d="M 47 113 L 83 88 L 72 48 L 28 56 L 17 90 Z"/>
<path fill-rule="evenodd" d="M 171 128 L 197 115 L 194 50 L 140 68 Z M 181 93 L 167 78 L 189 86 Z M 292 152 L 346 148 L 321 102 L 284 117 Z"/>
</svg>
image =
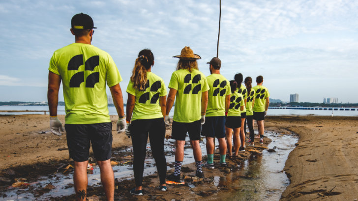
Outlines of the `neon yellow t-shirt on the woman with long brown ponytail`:
<svg viewBox="0 0 358 201">
<path fill-rule="evenodd" d="M 167 89 L 163 79 L 159 76 L 152 72 L 147 72 L 147 84 L 144 91 L 135 89 L 133 83 L 129 81 L 126 92 L 136 97 L 132 121 L 163 117 L 159 97 L 166 96 Z"/>
</svg>

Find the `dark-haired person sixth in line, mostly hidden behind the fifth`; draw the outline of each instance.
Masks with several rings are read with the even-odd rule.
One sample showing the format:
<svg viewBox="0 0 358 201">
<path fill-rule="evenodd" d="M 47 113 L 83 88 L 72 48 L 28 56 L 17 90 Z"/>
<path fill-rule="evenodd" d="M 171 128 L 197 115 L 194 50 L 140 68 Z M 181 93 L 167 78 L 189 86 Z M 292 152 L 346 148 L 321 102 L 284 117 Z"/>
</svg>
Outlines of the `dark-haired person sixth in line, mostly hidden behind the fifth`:
<svg viewBox="0 0 358 201">
<path fill-rule="evenodd" d="M 236 83 L 238 83 L 238 93 L 240 93 L 243 97 L 244 103 L 246 105 L 246 100 L 247 100 L 247 90 L 245 88 L 245 86 L 242 85 L 242 74 L 238 73 L 235 75 L 234 80 L 236 81 Z M 241 126 L 240 126 L 240 148 L 239 151 L 245 151 L 245 132 L 244 132 L 244 123 L 245 123 L 245 118 L 246 118 L 246 107 L 244 106 L 243 111 L 241 111 Z M 234 142 L 235 138 L 234 138 Z M 234 143 L 234 147 L 236 146 L 236 144 Z"/>
</svg>

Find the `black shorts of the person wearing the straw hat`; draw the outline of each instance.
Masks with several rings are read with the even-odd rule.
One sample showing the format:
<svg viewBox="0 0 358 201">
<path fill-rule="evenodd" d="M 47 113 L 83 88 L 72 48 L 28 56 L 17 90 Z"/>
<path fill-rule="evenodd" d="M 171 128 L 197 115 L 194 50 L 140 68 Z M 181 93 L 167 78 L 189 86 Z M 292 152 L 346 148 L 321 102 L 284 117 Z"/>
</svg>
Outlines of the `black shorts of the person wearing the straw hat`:
<svg viewBox="0 0 358 201">
<path fill-rule="evenodd" d="M 200 120 L 191 123 L 173 121 L 172 139 L 184 141 L 186 133 L 188 133 L 190 140 L 200 140 L 200 125 Z"/>
</svg>

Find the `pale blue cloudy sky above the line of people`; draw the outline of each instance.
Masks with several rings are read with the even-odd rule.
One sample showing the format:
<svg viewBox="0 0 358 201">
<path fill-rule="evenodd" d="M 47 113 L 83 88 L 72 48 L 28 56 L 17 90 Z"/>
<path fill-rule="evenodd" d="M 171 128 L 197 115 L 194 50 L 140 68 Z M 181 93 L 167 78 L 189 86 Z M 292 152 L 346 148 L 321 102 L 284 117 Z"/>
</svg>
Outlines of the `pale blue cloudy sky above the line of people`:
<svg viewBox="0 0 358 201">
<path fill-rule="evenodd" d="M 184 46 L 210 74 L 219 0 L 0 0 L 0 101 L 47 101 L 50 58 L 74 42 L 71 18 L 81 12 L 98 28 L 92 45 L 119 68 L 125 101 L 145 48 L 155 57 L 152 72 L 167 86 L 178 62 L 173 56 Z M 299 102 L 358 103 L 358 1 L 223 0 L 219 58 L 228 80 L 239 72 L 253 81 L 262 75 L 272 99 L 298 93 Z"/>
</svg>

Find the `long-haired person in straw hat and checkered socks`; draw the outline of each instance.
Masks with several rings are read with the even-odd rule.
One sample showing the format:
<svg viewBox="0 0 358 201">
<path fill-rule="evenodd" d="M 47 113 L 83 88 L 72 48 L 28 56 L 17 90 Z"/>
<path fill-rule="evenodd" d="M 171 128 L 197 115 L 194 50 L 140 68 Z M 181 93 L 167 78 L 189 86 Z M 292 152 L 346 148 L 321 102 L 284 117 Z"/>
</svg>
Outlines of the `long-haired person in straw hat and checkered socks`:
<svg viewBox="0 0 358 201">
<path fill-rule="evenodd" d="M 196 59 L 199 55 L 193 53 L 190 47 L 184 47 L 179 56 L 177 70 L 169 82 L 167 111 L 165 122 L 170 123 L 169 112 L 176 100 L 173 116 L 172 139 L 176 140 L 175 171 L 167 176 L 168 180 L 180 182 L 180 169 L 184 159 L 184 144 L 186 133 L 189 134 L 196 163 L 195 175 L 203 178 L 202 153 L 200 149 L 200 127 L 205 122 L 205 112 L 208 105 L 208 82 L 205 75 L 198 70 Z"/>
</svg>

